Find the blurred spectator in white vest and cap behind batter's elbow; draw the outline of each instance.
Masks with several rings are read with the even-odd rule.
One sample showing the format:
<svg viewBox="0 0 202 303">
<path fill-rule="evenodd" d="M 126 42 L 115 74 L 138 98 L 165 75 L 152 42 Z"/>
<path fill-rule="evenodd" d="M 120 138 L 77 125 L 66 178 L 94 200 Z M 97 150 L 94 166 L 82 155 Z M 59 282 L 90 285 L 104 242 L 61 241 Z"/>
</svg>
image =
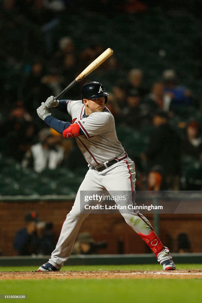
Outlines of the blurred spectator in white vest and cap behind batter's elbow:
<svg viewBox="0 0 202 303">
<path fill-rule="evenodd" d="M 51 128 L 44 128 L 38 134 L 39 142 L 32 145 L 25 154 L 22 167 L 31 167 L 37 173 L 45 168 L 55 169 L 64 159 L 64 149 L 59 146 L 61 136 L 54 136 Z"/>
</svg>

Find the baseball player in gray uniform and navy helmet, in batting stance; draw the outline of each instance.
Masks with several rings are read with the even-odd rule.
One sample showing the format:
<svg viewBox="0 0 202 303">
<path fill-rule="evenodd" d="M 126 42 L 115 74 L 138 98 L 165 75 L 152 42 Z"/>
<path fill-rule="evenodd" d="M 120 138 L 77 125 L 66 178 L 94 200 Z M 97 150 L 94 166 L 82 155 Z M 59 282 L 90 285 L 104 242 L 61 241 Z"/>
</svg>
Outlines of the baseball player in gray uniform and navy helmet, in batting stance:
<svg viewBox="0 0 202 303">
<path fill-rule="evenodd" d="M 37 109 L 38 116 L 64 138 L 75 137 L 89 167 L 75 203 L 63 223 L 56 248 L 49 261 L 41 265 L 38 271 L 59 271 L 70 257 L 79 228 L 91 212 L 89 210 L 86 214 L 80 211 L 80 191 L 130 191 L 131 204 L 135 205 L 134 162 L 118 141 L 114 117 L 105 106 L 108 95 L 101 83 L 89 82 L 81 88 L 81 100 L 58 101 L 51 96 Z M 71 115 L 72 123 L 52 117 L 48 110 L 52 107 Z M 163 270 L 175 270 L 169 249 L 162 245 L 150 222 L 133 209 L 122 215 L 155 253 Z"/>
</svg>

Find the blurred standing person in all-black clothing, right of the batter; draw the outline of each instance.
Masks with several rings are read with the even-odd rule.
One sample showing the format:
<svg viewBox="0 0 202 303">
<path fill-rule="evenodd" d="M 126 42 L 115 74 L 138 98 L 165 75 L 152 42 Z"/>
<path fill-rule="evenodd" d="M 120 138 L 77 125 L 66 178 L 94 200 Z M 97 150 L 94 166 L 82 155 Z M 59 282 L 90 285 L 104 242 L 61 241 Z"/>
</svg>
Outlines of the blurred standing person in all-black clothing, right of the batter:
<svg viewBox="0 0 202 303">
<path fill-rule="evenodd" d="M 180 138 L 168 124 L 168 115 L 158 111 L 153 118 L 155 126 L 144 159 L 147 159 L 147 170 L 150 171 L 155 165 L 161 165 L 162 174 L 166 176 L 167 188 L 179 189 L 180 175 Z"/>
</svg>

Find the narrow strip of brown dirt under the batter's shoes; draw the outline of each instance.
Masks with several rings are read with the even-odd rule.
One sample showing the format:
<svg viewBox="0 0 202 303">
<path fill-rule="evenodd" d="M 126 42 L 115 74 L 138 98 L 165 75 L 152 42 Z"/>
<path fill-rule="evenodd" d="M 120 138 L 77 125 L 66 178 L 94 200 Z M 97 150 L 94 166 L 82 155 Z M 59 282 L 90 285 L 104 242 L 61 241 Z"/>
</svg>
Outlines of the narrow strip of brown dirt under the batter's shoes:
<svg viewBox="0 0 202 303">
<path fill-rule="evenodd" d="M 0 280 L 26 280 L 26 279 L 193 279 L 202 278 L 202 270 L 175 270 L 175 271 L 2 271 Z"/>
</svg>

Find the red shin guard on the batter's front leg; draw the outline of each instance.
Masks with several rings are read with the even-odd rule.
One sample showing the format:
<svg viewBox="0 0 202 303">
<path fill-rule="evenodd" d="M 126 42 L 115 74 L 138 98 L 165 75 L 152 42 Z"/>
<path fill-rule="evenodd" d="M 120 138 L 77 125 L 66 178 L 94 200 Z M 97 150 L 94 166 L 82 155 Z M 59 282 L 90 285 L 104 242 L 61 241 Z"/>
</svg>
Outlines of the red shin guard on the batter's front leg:
<svg viewBox="0 0 202 303">
<path fill-rule="evenodd" d="M 140 235 L 144 242 L 147 243 L 158 259 L 158 254 L 164 249 L 164 246 L 155 232 L 152 230 L 149 235 L 143 235 L 138 232 L 138 235 Z"/>
</svg>

